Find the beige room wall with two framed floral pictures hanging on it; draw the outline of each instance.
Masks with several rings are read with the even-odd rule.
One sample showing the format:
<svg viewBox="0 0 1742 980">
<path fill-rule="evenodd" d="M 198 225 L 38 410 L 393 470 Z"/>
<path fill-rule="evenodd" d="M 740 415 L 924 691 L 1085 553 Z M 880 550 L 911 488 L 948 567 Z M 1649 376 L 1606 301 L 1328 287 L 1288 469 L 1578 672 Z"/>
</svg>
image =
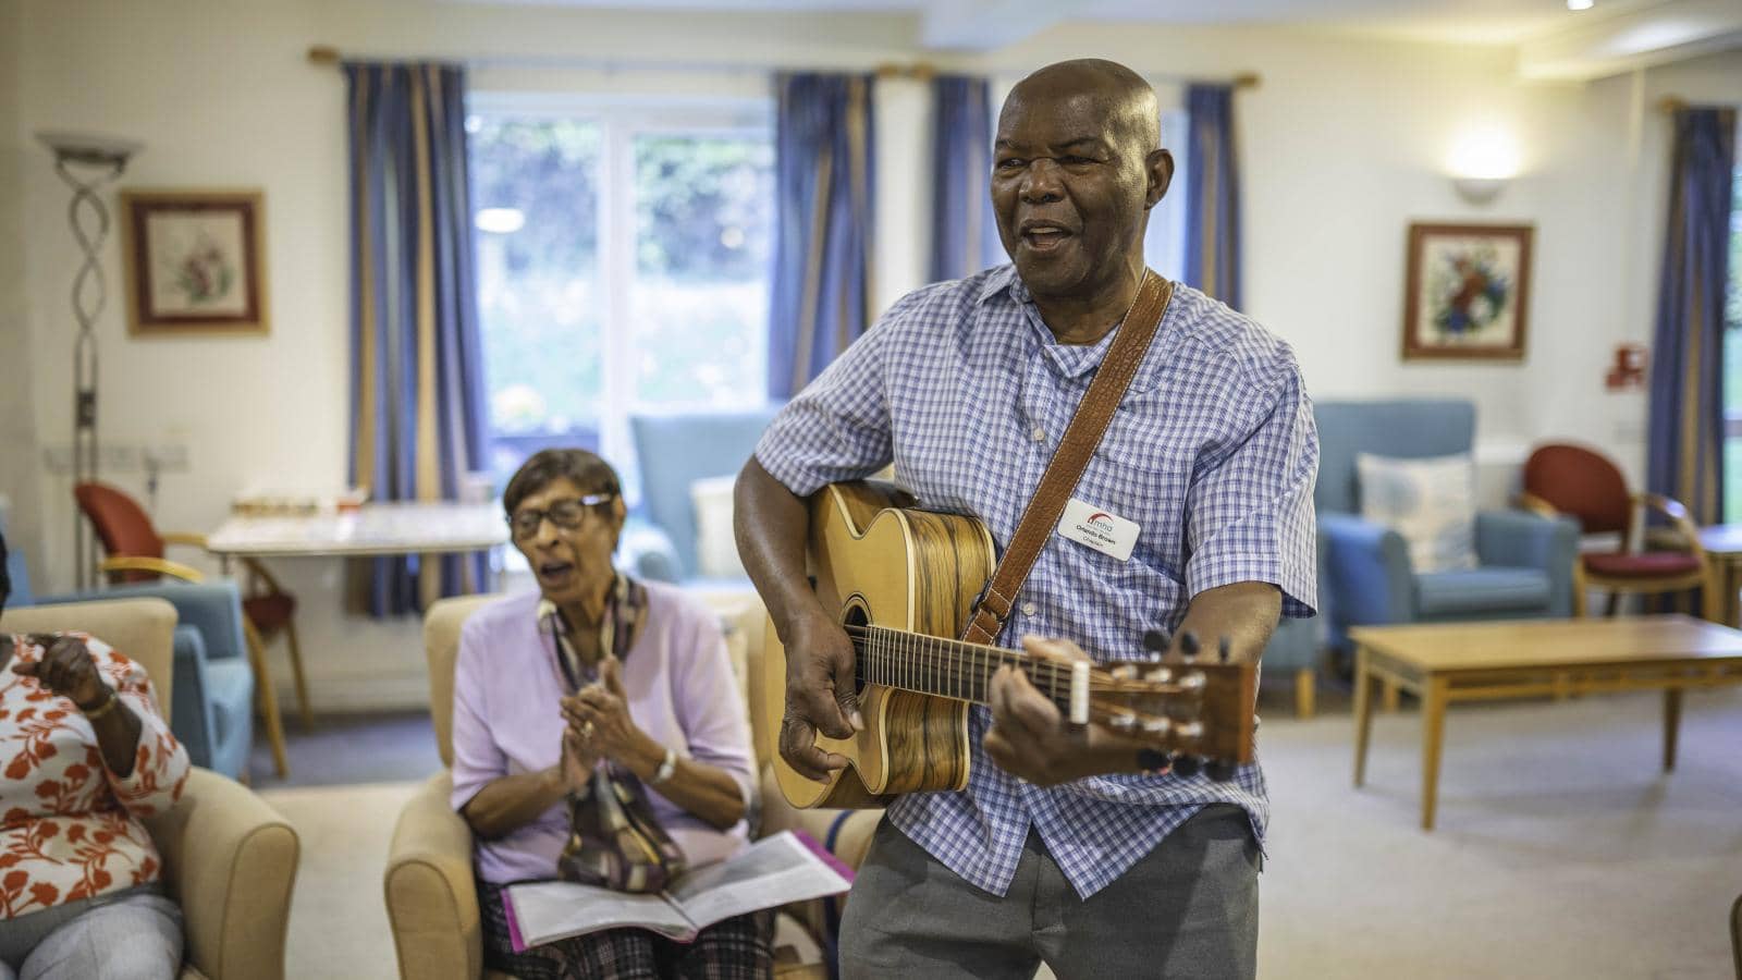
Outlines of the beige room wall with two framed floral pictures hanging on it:
<svg viewBox="0 0 1742 980">
<path fill-rule="evenodd" d="M 1247 309 L 1296 345 L 1310 391 L 1467 394 L 1481 408 L 1481 452 L 1491 462 L 1519 459 L 1531 439 L 1570 436 L 1608 446 L 1634 471 L 1643 460 L 1643 396 L 1606 394 L 1601 378 L 1617 342 L 1650 338 L 1665 152 L 1665 122 L 1650 105 L 1660 92 L 1742 92 L 1742 54 L 1653 70 L 1637 91 L 1631 78 L 1526 85 L 1514 80 L 1507 51 L 1254 28 L 1073 24 L 949 61 L 916 51 L 913 19 L 878 16 L 660 17 L 422 0 L 21 0 L 0 10 L 0 78 L 10 77 L 9 65 L 19 78 L 16 98 L 0 91 L 0 188 L 23 183 L 21 204 L 0 194 L 0 434 L 9 448 L 17 432 L 49 446 L 70 439 L 59 378 L 70 377 L 71 345 L 61 310 L 77 249 L 64 234 L 64 188 L 42 153 L 19 150 L 24 134 L 59 126 L 139 138 L 146 150 L 129 169 L 131 187 L 267 190 L 272 337 L 134 342 L 118 303 L 99 330 L 103 439 L 185 445 L 190 471 L 164 476 L 157 520 L 193 530 L 214 527 L 246 488 L 333 487 L 345 478 L 343 84 L 334 70 L 305 61 L 310 44 L 483 59 L 474 71 L 479 91 L 758 92 L 766 82 L 756 68 L 770 65 L 869 68 L 922 58 L 1003 77 L 1078 54 L 1178 75 L 1252 70 L 1263 85 L 1240 94 Z M 16 31 L 5 30 L 7 16 Z M 723 66 L 550 68 L 577 56 Z M 1460 134 L 1474 127 L 1510 134 L 1523 157 L 1521 176 L 1488 208 L 1463 204 L 1446 180 Z M 876 242 L 876 295 L 885 302 L 923 276 L 925 129 L 923 87 L 887 84 L 878 105 Z M 1404 227 L 1416 218 L 1536 225 L 1523 364 L 1399 361 Z M 113 242 L 106 262 L 118 282 Z M 28 288 L 3 288 L 21 277 Z M 21 317 L 28 331 L 17 330 Z M 19 345 L 28 350 L 14 354 Z M 35 378 L 33 398 L 12 394 L 21 378 Z M 28 480 L 17 492 L 5 483 L 19 483 L 16 476 L 0 476 L 0 492 L 47 528 L 35 565 L 47 586 L 64 588 L 68 483 L 40 466 L 37 476 L 35 502 Z M 138 473 L 110 476 L 143 492 Z M 305 602 L 319 704 L 423 703 L 416 624 L 340 616 L 329 598 L 336 563 L 279 567 Z"/>
</svg>

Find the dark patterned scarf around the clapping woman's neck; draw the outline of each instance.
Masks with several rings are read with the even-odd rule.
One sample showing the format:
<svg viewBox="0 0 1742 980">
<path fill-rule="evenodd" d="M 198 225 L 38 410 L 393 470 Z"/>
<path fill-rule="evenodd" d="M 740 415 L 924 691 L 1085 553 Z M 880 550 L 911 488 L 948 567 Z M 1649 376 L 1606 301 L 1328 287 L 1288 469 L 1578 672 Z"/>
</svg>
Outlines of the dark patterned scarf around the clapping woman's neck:
<svg viewBox="0 0 1742 980">
<path fill-rule="evenodd" d="M 617 575 L 599 617 L 599 656 L 629 656 L 629 645 L 646 616 L 646 588 Z M 557 668 L 575 694 L 599 682 L 598 664 L 584 663 L 570 640 L 573 630 L 554 602 L 538 603 L 540 626 L 556 640 Z M 592 771 L 587 788 L 568 797 L 568 844 L 556 861 L 557 877 L 613 891 L 662 891 L 683 874 L 683 851 L 653 818 L 641 779 L 610 759 Z"/>
</svg>

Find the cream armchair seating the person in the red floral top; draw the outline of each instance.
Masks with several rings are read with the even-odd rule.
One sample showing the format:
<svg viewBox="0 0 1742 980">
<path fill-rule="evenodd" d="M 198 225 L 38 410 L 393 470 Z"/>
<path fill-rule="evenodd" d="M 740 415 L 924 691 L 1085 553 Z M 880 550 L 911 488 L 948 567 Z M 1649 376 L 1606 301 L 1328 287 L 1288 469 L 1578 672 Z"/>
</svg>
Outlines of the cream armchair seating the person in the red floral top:
<svg viewBox="0 0 1742 980">
<path fill-rule="evenodd" d="M 159 710 L 174 677 L 176 609 L 127 598 L 7 610 L 0 633 L 91 633 L 152 675 Z M 300 840 L 270 806 L 233 779 L 193 769 L 174 809 L 146 820 L 164 856 L 164 886 L 181 903 L 181 977 L 282 980 Z"/>
</svg>

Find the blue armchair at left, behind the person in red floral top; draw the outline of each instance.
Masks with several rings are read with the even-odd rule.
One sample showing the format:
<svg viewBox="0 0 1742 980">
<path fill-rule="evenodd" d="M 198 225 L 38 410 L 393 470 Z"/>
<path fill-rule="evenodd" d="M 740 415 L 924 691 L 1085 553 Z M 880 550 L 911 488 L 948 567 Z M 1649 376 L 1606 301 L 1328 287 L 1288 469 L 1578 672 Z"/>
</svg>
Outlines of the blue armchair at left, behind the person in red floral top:
<svg viewBox="0 0 1742 980">
<path fill-rule="evenodd" d="M 141 596 L 164 598 L 176 607 L 176 684 L 171 689 L 169 731 L 181 739 L 195 766 L 232 779 L 244 778 L 254 745 L 254 671 L 242 640 L 242 593 L 235 582 L 113 586 L 37 596 L 35 603 Z"/>
</svg>

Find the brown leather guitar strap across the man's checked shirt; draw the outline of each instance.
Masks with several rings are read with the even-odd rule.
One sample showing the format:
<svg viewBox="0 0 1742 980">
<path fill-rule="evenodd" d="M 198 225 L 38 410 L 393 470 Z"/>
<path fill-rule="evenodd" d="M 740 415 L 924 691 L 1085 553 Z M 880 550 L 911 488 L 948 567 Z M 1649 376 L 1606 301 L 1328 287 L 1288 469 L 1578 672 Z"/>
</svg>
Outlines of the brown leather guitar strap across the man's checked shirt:
<svg viewBox="0 0 1742 980">
<path fill-rule="evenodd" d="M 1106 424 L 1113 420 L 1113 412 L 1125 398 L 1125 389 L 1131 387 L 1131 378 L 1136 377 L 1138 364 L 1143 363 L 1143 354 L 1150 349 L 1150 340 L 1155 338 L 1155 330 L 1160 326 L 1162 314 L 1167 312 L 1167 302 L 1172 296 L 1172 282 L 1148 269 L 1143 270 L 1138 298 L 1125 312 L 1125 321 L 1096 370 L 1094 382 L 1089 384 L 1082 403 L 1077 405 L 1071 424 L 1064 429 L 1064 438 L 1059 439 L 1059 448 L 1052 453 L 1052 462 L 1047 464 L 1047 473 L 1040 476 L 1040 487 L 1035 488 L 1028 509 L 1023 511 L 1023 520 L 1016 525 L 1010 546 L 1003 549 L 998 568 L 993 570 L 991 581 L 986 582 L 979 602 L 974 603 L 974 617 L 962 631 L 962 638 L 969 643 L 991 643 L 1003 630 L 1016 593 L 1028 579 L 1035 560 L 1040 558 L 1040 549 L 1045 548 L 1052 528 L 1059 525 L 1064 504 L 1070 502 L 1084 467 L 1089 466 L 1089 457 L 1106 432 Z"/>
</svg>

